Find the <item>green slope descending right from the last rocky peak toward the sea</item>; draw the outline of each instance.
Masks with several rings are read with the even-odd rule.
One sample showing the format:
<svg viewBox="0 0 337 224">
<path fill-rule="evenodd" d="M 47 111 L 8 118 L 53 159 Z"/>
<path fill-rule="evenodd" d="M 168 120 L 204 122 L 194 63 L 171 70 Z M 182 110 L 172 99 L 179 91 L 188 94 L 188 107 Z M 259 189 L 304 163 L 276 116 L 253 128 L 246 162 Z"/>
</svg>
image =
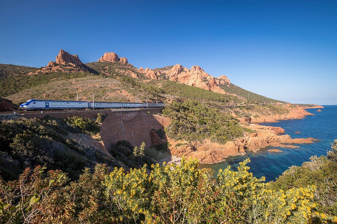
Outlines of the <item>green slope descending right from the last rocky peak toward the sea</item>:
<svg viewBox="0 0 337 224">
<path fill-rule="evenodd" d="M 239 86 L 236 86 L 234 84 L 220 85 L 220 87 L 228 93 L 242 96 L 242 97 L 246 98 L 247 100 L 248 100 L 248 94 L 249 94 L 249 102 L 250 103 L 283 102 L 283 101 L 274 100 L 274 99 L 271 99 L 271 98 L 268 98 L 268 97 L 258 95 L 254 92 L 248 91 L 248 90 L 243 89 L 243 88 L 241 88 Z"/>
</svg>

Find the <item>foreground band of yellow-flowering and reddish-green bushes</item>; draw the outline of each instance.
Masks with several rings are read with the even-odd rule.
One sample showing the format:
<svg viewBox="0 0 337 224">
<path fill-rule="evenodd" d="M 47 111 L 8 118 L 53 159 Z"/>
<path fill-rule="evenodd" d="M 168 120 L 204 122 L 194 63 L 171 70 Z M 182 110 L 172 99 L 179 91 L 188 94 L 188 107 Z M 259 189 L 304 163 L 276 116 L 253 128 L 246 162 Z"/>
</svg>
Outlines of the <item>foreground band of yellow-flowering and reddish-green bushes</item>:
<svg viewBox="0 0 337 224">
<path fill-rule="evenodd" d="M 0 178 L 1 223 L 333 223 L 319 211 L 312 185 L 270 189 L 249 173 L 198 169 L 198 161 L 109 172 L 97 164 L 76 181 L 60 170 L 26 169 L 19 180 Z M 148 173 L 149 172 L 149 173 Z M 334 176 L 336 177 L 336 176 Z M 336 191 L 334 192 L 334 194 Z"/>
</svg>

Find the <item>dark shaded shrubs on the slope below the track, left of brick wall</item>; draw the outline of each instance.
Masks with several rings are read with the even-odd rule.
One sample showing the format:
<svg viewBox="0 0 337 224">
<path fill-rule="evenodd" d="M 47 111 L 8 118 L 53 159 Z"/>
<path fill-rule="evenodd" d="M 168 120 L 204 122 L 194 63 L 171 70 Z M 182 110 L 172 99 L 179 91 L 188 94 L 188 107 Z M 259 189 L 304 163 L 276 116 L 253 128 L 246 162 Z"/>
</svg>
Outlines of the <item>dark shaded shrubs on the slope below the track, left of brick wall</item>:
<svg viewBox="0 0 337 224">
<path fill-rule="evenodd" d="M 69 122 L 70 124 L 68 124 Z M 2 120 L 0 121 L 0 171 L 13 179 L 26 167 L 47 164 L 48 169 L 62 169 L 77 178 L 85 167 L 96 162 L 118 165 L 101 151 L 78 143 L 68 133 L 96 133 L 98 124 L 86 118 Z"/>
</svg>

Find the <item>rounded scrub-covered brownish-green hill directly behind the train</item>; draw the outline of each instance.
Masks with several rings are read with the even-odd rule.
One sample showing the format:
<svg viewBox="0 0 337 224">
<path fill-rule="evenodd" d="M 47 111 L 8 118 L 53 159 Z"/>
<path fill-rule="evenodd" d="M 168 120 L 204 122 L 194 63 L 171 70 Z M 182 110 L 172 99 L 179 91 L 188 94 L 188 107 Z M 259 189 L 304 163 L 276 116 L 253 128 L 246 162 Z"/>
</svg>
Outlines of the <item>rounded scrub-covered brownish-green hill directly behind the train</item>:
<svg viewBox="0 0 337 224">
<path fill-rule="evenodd" d="M 27 99 L 55 99 L 55 100 L 75 100 L 76 94 L 80 92 L 95 91 L 95 101 L 117 101 L 128 102 L 129 98 L 137 99 L 137 102 L 146 102 L 146 98 L 151 102 L 165 102 L 165 97 L 151 90 L 145 90 L 145 84 L 136 82 L 131 78 L 103 77 L 102 75 L 92 76 L 87 74 L 84 77 L 71 78 L 55 81 L 30 89 L 22 90 L 12 94 L 7 99 L 15 103 L 25 102 Z M 93 87 L 94 86 L 94 87 Z M 81 90 L 79 90 L 81 89 Z M 90 100 L 89 96 L 84 96 L 83 100 Z"/>
</svg>

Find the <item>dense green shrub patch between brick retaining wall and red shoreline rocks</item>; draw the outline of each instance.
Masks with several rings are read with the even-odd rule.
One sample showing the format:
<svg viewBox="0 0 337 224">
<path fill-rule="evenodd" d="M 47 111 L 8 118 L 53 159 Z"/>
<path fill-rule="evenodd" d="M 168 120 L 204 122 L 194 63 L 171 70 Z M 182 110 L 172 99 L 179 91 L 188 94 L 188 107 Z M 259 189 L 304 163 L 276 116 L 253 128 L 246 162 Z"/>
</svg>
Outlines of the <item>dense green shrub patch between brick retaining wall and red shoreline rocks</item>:
<svg viewBox="0 0 337 224">
<path fill-rule="evenodd" d="M 168 105 L 163 114 L 172 119 L 167 136 L 176 140 L 204 140 L 210 138 L 221 144 L 241 137 L 250 129 L 240 126 L 239 121 L 219 109 L 195 101 Z"/>
</svg>

